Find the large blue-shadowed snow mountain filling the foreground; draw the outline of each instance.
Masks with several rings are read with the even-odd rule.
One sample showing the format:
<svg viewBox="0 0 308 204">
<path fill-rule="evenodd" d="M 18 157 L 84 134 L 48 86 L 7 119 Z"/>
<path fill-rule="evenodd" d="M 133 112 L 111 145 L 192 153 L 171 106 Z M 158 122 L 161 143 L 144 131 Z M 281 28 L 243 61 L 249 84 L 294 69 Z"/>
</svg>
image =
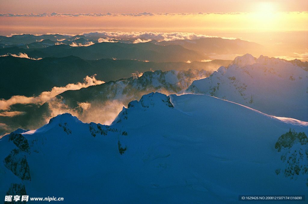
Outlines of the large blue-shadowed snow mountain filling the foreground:
<svg viewBox="0 0 308 204">
<path fill-rule="evenodd" d="M 150 93 L 110 126 L 63 114 L 2 137 L 0 197 L 236 203 L 241 194 L 304 195 L 307 132 L 307 122 L 212 96 Z"/>
</svg>

